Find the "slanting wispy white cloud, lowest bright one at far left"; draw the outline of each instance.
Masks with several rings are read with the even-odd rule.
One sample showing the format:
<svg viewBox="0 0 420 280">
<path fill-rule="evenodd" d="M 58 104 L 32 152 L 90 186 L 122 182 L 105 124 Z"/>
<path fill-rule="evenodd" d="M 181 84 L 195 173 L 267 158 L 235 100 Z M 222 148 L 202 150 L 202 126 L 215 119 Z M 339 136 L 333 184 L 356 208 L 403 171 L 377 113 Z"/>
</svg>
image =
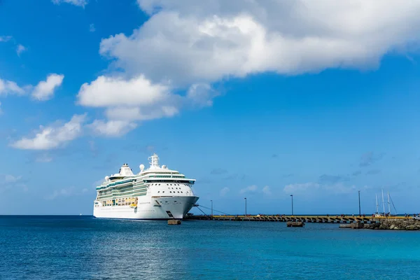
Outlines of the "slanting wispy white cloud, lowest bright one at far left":
<svg viewBox="0 0 420 280">
<path fill-rule="evenodd" d="M 74 115 L 68 123 L 64 123 L 62 126 L 40 126 L 35 137 L 23 137 L 10 146 L 25 150 L 49 150 L 52 148 L 59 148 L 80 136 L 85 118 L 86 114 Z"/>
</svg>

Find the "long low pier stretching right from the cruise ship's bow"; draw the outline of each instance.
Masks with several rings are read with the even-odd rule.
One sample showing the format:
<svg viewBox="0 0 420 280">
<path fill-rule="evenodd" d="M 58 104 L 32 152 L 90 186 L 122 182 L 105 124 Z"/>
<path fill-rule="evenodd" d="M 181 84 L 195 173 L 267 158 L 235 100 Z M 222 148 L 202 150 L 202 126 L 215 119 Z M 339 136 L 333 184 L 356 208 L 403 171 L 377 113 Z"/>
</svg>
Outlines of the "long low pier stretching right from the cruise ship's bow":
<svg viewBox="0 0 420 280">
<path fill-rule="evenodd" d="M 411 220 L 402 216 L 284 216 L 284 215 L 190 215 L 185 220 L 250 221 L 250 222 L 302 222 L 302 223 L 379 223 L 381 221 Z"/>
</svg>

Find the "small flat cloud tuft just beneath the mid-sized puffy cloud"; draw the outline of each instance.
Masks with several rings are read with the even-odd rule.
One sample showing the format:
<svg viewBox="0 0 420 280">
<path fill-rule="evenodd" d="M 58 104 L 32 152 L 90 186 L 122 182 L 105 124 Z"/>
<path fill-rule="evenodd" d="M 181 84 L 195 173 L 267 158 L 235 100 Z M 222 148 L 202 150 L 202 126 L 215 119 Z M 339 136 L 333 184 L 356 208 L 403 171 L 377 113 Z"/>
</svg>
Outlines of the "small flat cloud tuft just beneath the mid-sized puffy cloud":
<svg viewBox="0 0 420 280">
<path fill-rule="evenodd" d="M 106 137 L 119 137 L 130 132 L 130 130 L 134 130 L 137 124 L 126 120 L 109 120 L 107 122 L 104 120 L 94 120 L 87 127 L 90 127 L 95 134 Z"/>
</svg>

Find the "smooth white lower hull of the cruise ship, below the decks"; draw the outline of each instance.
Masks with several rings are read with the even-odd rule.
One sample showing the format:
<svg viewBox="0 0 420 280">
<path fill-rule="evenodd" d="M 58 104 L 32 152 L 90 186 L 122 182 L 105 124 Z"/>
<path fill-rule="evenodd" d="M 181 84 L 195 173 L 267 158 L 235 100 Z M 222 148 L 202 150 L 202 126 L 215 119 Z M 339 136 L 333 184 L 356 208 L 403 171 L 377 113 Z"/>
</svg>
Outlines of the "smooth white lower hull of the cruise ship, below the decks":
<svg viewBox="0 0 420 280">
<path fill-rule="evenodd" d="M 121 218 L 121 219 L 182 219 L 197 202 L 196 196 L 180 197 L 139 197 L 136 208 L 130 206 L 99 206 L 94 207 L 95 218 Z M 158 201 L 158 202 L 156 202 Z"/>
</svg>

